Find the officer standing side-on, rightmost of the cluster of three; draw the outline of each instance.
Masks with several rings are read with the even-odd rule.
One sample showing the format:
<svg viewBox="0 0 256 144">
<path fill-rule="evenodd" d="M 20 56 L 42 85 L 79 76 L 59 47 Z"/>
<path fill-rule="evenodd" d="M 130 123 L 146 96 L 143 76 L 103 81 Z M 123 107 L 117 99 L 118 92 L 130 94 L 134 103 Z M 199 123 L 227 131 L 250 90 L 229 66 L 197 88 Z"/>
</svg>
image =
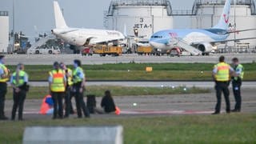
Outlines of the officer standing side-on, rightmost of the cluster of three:
<svg viewBox="0 0 256 144">
<path fill-rule="evenodd" d="M 81 61 L 74 60 L 74 70 L 73 70 L 73 82 L 74 82 L 74 93 L 75 102 L 77 106 L 78 118 L 82 118 L 82 112 L 86 118 L 90 118 L 90 112 L 86 106 L 83 99 L 83 91 L 85 86 L 85 74 L 81 68 Z"/>
</svg>

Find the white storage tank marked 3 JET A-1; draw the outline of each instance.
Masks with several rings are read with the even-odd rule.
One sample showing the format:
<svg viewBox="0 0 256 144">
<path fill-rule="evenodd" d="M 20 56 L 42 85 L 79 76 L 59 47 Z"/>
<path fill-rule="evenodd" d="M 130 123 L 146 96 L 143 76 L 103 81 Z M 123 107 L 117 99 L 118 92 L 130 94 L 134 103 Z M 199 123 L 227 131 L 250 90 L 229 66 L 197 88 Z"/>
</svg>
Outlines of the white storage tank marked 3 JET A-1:
<svg viewBox="0 0 256 144">
<path fill-rule="evenodd" d="M 126 35 L 134 35 L 134 30 L 138 30 L 138 37 L 150 38 L 158 30 L 173 28 L 170 1 L 112 1 L 105 14 L 104 26 Z"/>
</svg>

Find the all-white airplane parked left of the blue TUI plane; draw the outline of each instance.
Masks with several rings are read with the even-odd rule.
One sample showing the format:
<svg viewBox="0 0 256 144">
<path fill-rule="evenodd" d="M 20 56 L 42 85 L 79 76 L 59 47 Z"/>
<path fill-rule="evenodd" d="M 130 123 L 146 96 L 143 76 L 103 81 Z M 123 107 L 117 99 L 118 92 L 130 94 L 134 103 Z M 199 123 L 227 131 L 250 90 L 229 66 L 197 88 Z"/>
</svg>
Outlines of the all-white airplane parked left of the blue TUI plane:
<svg viewBox="0 0 256 144">
<path fill-rule="evenodd" d="M 54 1 L 55 26 L 51 32 L 72 46 L 89 46 L 97 43 L 108 43 L 124 39 L 124 35 L 116 30 L 80 29 L 66 25 L 58 2 Z"/>
</svg>

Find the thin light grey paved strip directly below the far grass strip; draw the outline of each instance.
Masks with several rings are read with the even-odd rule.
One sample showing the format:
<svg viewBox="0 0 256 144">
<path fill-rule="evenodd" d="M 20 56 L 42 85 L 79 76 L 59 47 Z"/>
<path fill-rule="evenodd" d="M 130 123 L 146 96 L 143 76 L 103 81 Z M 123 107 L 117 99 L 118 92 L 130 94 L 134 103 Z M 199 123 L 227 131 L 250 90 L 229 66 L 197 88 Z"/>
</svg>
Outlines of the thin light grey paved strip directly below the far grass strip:
<svg viewBox="0 0 256 144">
<path fill-rule="evenodd" d="M 30 86 L 48 86 L 48 82 L 30 82 Z M 186 86 L 199 88 L 214 88 L 214 82 L 139 82 L 139 81 L 103 81 L 103 82 L 86 82 L 86 86 L 136 86 L 136 87 L 170 87 Z M 242 82 L 243 88 L 255 88 L 256 82 Z"/>
</svg>

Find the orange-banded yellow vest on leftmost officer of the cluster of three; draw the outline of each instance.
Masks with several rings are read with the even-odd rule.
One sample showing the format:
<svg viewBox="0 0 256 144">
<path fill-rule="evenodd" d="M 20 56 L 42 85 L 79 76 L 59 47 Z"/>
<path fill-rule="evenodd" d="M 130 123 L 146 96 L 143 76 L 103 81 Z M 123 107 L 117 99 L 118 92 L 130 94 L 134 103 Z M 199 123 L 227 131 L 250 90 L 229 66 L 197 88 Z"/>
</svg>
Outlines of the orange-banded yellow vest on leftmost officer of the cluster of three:
<svg viewBox="0 0 256 144">
<path fill-rule="evenodd" d="M 64 92 L 65 85 L 64 85 L 64 77 L 65 73 L 63 70 L 52 70 L 50 71 L 50 76 L 53 78 L 53 82 L 51 83 L 50 90 L 53 92 Z"/>
</svg>

